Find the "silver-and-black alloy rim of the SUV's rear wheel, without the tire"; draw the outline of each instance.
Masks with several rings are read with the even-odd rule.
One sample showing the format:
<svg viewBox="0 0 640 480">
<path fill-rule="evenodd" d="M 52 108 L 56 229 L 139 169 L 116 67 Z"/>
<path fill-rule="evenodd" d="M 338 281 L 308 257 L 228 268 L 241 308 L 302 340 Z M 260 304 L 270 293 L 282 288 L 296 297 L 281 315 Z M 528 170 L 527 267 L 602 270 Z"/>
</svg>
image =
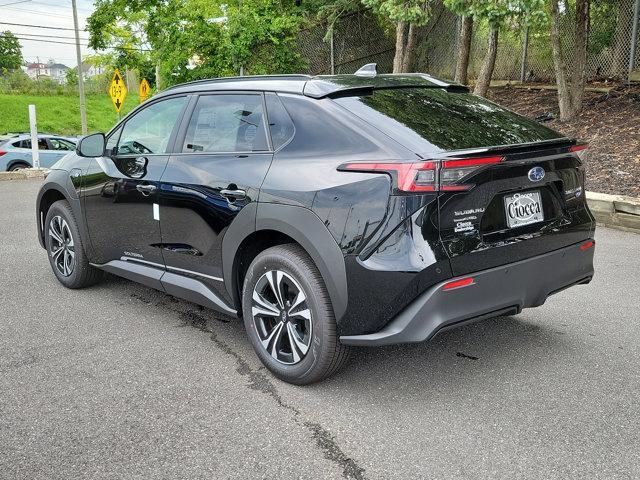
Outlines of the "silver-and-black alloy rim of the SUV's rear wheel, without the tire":
<svg viewBox="0 0 640 480">
<path fill-rule="evenodd" d="M 264 349 L 286 365 L 302 361 L 311 345 L 311 309 L 302 287 L 281 270 L 270 270 L 253 288 L 251 315 Z"/>
</svg>

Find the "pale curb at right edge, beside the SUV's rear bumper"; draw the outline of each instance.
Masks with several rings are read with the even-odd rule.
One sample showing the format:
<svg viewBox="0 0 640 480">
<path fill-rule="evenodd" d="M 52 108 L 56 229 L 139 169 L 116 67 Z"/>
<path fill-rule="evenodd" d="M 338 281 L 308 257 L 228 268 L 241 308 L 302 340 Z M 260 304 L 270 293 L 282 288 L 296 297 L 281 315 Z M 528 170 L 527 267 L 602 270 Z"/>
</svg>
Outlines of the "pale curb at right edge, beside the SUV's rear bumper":
<svg viewBox="0 0 640 480">
<path fill-rule="evenodd" d="M 640 198 L 587 192 L 587 204 L 598 225 L 640 233 Z"/>
</svg>

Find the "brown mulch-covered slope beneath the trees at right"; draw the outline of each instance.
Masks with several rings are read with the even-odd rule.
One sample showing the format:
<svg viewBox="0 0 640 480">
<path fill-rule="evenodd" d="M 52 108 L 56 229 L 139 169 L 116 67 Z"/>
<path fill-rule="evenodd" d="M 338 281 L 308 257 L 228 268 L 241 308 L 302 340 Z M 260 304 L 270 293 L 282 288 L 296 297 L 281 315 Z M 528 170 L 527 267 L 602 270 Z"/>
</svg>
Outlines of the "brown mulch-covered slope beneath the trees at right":
<svg viewBox="0 0 640 480">
<path fill-rule="evenodd" d="M 587 190 L 640 197 L 640 86 L 586 92 L 580 116 L 560 122 L 557 93 L 493 88 L 491 99 L 521 115 L 551 118 L 544 125 L 589 142 Z"/>
</svg>

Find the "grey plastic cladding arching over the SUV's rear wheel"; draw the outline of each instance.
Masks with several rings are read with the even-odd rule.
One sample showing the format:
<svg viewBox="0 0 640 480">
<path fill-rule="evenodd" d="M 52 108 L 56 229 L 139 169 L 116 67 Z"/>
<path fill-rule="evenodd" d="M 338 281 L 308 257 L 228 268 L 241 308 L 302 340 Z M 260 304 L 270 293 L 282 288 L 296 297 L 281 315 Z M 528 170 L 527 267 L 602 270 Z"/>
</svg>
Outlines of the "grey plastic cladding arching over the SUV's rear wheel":
<svg viewBox="0 0 640 480">
<path fill-rule="evenodd" d="M 252 206 L 252 210 L 248 207 Z M 264 232 L 282 235 L 276 241 L 286 243 L 290 238 L 309 254 L 317 266 L 327 287 L 336 321 L 347 309 L 347 274 L 344 256 L 335 239 L 318 216 L 304 207 L 260 203 L 247 205 L 236 217 L 222 243 L 222 264 L 224 283 L 227 291 L 239 301 L 238 254 L 242 253 L 243 242 L 252 234 Z M 241 221 L 237 221 L 241 220 Z M 271 233 L 270 233 L 271 232 Z M 273 242 L 267 242 L 272 246 Z"/>
</svg>

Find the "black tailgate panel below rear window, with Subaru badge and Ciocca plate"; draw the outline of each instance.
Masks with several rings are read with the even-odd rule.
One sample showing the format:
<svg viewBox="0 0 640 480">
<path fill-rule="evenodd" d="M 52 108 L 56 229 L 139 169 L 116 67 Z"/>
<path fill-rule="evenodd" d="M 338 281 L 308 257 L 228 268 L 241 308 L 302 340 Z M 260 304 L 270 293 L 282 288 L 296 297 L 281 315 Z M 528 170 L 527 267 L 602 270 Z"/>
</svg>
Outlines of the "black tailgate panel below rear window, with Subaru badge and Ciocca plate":
<svg viewBox="0 0 640 480">
<path fill-rule="evenodd" d="M 468 189 L 441 191 L 440 238 L 453 274 L 516 262 L 592 236 L 581 148 L 557 142 L 494 149 L 485 158 L 496 163 L 470 168 L 459 182 Z"/>
</svg>

